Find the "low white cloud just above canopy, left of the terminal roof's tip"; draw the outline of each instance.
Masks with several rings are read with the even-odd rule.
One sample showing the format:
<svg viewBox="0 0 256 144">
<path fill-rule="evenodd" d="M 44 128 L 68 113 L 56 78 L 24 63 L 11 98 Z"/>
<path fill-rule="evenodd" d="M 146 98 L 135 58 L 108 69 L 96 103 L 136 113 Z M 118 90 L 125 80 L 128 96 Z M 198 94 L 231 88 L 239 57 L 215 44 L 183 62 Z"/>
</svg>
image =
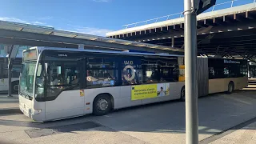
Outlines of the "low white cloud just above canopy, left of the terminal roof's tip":
<svg viewBox="0 0 256 144">
<path fill-rule="evenodd" d="M 92 34 L 92 35 L 98 35 L 98 36 L 106 36 L 106 33 L 112 31 L 108 29 L 101 29 L 101 28 L 96 28 L 96 27 L 83 27 L 83 26 L 74 26 L 73 30 L 77 33 L 82 33 L 82 34 Z"/>
</svg>

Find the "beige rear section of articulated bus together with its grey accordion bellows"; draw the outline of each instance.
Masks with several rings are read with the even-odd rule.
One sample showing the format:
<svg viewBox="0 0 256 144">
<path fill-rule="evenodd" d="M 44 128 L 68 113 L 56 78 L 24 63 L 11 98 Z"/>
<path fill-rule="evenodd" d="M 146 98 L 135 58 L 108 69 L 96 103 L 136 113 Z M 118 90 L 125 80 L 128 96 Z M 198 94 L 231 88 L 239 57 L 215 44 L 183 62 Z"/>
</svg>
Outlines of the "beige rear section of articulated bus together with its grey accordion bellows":
<svg viewBox="0 0 256 144">
<path fill-rule="evenodd" d="M 248 86 L 246 59 L 198 57 L 197 66 L 199 97 Z"/>
</svg>

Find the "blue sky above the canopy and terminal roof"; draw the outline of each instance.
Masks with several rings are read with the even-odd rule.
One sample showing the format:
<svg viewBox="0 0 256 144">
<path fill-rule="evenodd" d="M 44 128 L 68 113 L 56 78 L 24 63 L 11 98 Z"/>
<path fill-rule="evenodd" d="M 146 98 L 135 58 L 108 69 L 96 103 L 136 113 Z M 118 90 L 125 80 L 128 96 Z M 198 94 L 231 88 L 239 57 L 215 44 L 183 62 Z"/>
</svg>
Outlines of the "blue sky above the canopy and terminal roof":
<svg viewBox="0 0 256 144">
<path fill-rule="evenodd" d="M 217 3 L 231 0 L 217 0 Z M 238 0 L 234 6 L 253 2 Z M 123 25 L 183 11 L 183 0 L 0 0 L 0 20 L 105 36 Z M 216 6 L 229 7 L 230 3 Z M 178 15 L 170 18 L 177 18 Z"/>
</svg>

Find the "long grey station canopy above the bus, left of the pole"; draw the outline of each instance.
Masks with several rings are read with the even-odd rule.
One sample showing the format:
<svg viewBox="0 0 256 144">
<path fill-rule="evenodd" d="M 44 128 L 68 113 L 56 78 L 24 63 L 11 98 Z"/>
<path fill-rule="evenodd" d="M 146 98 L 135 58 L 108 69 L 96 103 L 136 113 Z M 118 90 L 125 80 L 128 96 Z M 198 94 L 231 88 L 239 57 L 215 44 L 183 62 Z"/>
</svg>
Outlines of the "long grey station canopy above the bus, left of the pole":
<svg viewBox="0 0 256 144">
<path fill-rule="evenodd" d="M 104 47 L 107 50 L 138 50 L 155 53 L 183 54 L 180 50 L 171 46 L 160 46 L 143 42 L 133 42 L 122 39 L 106 38 L 90 34 L 82 34 L 73 31 L 55 30 L 54 27 L 36 26 L 18 22 L 0 21 L 0 38 L 10 41 L 13 38 L 19 42 L 57 42 L 64 44 L 83 44 L 85 46 Z M 3 41 L 3 40 L 2 40 Z M 12 40 L 11 42 L 15 42 Z M 43 44 L 40 44 L 42 46 Z M 30 45 L 31 46 L 31 45 Z"/>
</svg>

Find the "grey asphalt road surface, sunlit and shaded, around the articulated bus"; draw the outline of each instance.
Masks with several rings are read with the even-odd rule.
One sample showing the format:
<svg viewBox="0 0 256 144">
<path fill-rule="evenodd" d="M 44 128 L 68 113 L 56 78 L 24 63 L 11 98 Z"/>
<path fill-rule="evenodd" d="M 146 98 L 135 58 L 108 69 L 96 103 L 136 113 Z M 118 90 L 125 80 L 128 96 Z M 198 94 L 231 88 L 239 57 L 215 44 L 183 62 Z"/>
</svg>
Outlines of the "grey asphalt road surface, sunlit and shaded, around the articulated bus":
<svg viewBox="0 0 256 144">
<path fill-rule="evenodd" d="M 199 140 L 240 129 L 256 117 L 256 88 L 198 99 Z M 56 122 L 31 122 L 23 114 L 0 115 L 0 143 L 185 143 L 185 103 L 172 101 Z M 218 135 L 215 135 L 218 134 Z M 222 138 L 225 133 L 222 133 Z M 216 143 L 216 142 L 215 142 Z"/>
</svg>

